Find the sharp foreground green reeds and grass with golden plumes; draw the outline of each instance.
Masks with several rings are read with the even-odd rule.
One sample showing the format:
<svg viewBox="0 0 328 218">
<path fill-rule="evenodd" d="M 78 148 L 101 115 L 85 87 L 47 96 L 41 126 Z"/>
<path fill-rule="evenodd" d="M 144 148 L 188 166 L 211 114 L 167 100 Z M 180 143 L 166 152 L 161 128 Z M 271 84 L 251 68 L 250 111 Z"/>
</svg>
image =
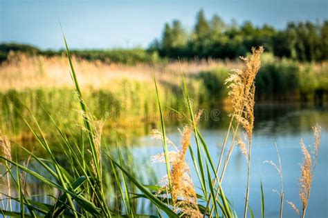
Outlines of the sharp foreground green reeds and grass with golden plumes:
<svg viewBox="0 0 328 218">
<path fill-rule="evenodd" d="M 57 129 L 60 137 L 57 140 L 57 146 L 60 146 L 64 152 L 64 158 L 60 159 L 54 154 L 53 148 L 49 146 L 46 132 L 41 128 L 39 122 L 33 113 L 29 112 L 29 118 L 17 112 L 24 119 L 26 125 L 38 141 L 39 146 L 44 149 L 48 159 L 38 157 L 31 150 L 21 146 L 30 155 L 31 161 L 34 161 L 38 168 L 32 170 L 26 163 L 21 163 L 19 159 L 12 157 L 8 152 L 8 143 L 6 139 L 1 143 L 1 148 L 5 151 L 0 156 L 2 163 L 6 166 L 6 175 L 12 181 L 12 186 L 17 189 L 19 197 L 10 195 L 10 192 L 3 193 L 1 197 L 11 201 L 18 201 L 20 211 L 12 211 L 10 208 L 0 210 L 3 216 L 21 216 L 21 217 L 237 217 L 237 212 L 232 204 L 232 199 L 226 196 L 221 184 L 224 182 L 224 175 L 229 164 L 230 156 L 239 142 L 239 147 L 247 159 L 248 177 L 246 188 L 246 200 L 244 208 L 244 217 L 253 215 L 248 206 L 250 196 L 250 161 L 254 124 L 254 103 L 255 103 L 255 77 L 261 66 L 260 56 L 263 48 L 253 49 L 250 57 L 243 58 L 244 68 L 235 70 L 226 79 L 228 83 L 228 96 L 233 102 L 233 112 L 231 114 L 230 126 L 228 127 L 224 146 L 222 147 L 219 161 L 210 154 L 206 139 L 201 135 L 197 126 L 201 119 L 201 111 L 194 113 L 194 106 L 191 103 L 187 79 L 183 76 L 183 97 L 186 102 L 184 113 L 187 124 L 181 130 L 181 145 L 172 144 L 165 133 L 165 119 L 163 114 L 165 108 L 161 104 L 161 92 L 155 83 L 155 93 L 158 111 L 160 115 L 161 130 L 156 131 L 156 135 L 163 141 L 163 154 L 159 154 L 156 159 L 162 161 L 166 166 L 167 179 L 164 186 L 145 185 L 143 172 L 136 172 L 138 167 L 133 166 L 128 150 L 120 150 L 116 146 L 107 145 L 102 140 L 102 121 L 98 121 L 91 115 L 84 99 L 84 92 L 78 82 L 78 74 L 75 72 L 73 59 L 67 46 L 66 52 L 69 59 L 71 79 L 75 86 L 75 95 L 78 97 L 76 102 L 80 105 L 81 129 L 80 137 L 69 140 L 69 134 L 64 132 L 60 121 L 51 116 L 47 108 L 44 112 L 51 120 L 53 126 Z M 246 132 L 246 141 L 238 139 L 238 129 Z M 302 177 L 300 179 L 300 197 L 303 204 L 302 217 L 304 217 L 307 201 L 309 200 L 313 170 L 316 166 L 320 145 L 320 128 L 316 126 L 315 135 L 315 164 L 312 164 L 309 152 L 302 144 L 302 152 L 305 156 L 304 165 L 302 165 Z M 194 137 L 196 141 L 196 150 L 190 146 L 190 138 Z M 226 148 L 228 139 L 231 139 L 230 147 Z M 247 146 L 246 146 L 247 145 Z M 174 150 L 170 150 L 172 146 Z M 228 150 L 228 153 L 224 152 Z M 10 154 L 9 154 L 10 153 Z M 185 157 L 190 155 L 194 165 L 193 173 L 197 174 L 200 186 L 200 192 L 194 188 L 190 166 L 185 161 Z M 146 169 L 143 166 L 143 169 Z M 221 168 L 222 167 L 222 168 Z M 33 201 L 30 195 L 24 190 L 23 174 L 34 177 L 42 184 L 56 190 L 52 195 L 51 204 Z M 9 179 L 8 179 L 9 181 Z M 262 195 L 263 197 L 263 195 Z M 264 198 L 264 197 L 263 197 Z M 116 199 L 113 201 L 113 199 Z M 136 199 L 146 199 L 150 201 L 156 209 L 156 213 L 140 213 L 136 206 Z M 10 202 L 10 201 L 7 201 Z M 263 201 L 264 202 L 264 201 Z M 8 203 L 10 204 L 10 203 Z M 264 204 L 262 210 L 264 211 Z M 282 206 L 281 209 L 282 211 Z M 165 215 L 163 215 L 165 213 Z M 264 215 L 264 212 L 263 212 Z"/>
</svg>

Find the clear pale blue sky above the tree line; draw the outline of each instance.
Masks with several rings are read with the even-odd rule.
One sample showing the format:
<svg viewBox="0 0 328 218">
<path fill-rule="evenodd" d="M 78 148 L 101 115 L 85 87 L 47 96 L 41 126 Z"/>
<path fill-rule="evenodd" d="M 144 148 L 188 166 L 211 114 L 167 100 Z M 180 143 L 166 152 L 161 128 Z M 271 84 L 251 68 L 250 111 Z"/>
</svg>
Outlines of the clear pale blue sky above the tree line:
<svg viewBox="0 0 328 218">
<path fill-rule="evenodd" d="M 146 48 L 160 38 L 165 22 L 179 19 L 191 30 L 200 8 L 229 23 L 251 21 L 284 28 L 288 21 L 328 19 L 328 0 L 0 0 L 0 42 L 28 43 L 42 49 Z"/>
</svg>

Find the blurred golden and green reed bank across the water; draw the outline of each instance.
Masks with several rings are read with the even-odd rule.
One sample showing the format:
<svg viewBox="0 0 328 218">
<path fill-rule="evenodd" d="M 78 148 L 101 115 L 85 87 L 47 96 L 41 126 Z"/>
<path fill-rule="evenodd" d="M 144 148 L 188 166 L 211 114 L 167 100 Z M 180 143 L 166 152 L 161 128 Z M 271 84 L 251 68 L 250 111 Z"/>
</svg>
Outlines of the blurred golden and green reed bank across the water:
<svg viewBox="0 0 328 218">
<path fill-rule="evenodd" d="M 183 112 L 185 102 L 181 90 L 184 73 L 195 108 L 222 108 L 230 105 L 225 80 L 240 61 L 181 61 L 138 63 L 102 63 L 73 57 L 84 100 L 97 119 L 107 119 L 108 126 L 133 127 L 158 120 L 152 74 L 165 106 Z M 39 119 L 48 122 L 42 108 L 47 108 L 65 126 L 77 123 L 78 102 L 67 74 L 66 57 L 30 56 L 12 53 L 0 67 L 0 120 L 8 135 L 26 135 L 23 117 L 29 108 Z M 262 68 L 255 80 L 256 101 L 328 101 L 328 63 L 299 63 L 277 59 L 271 54 L 262 57 Z M 42 102 L 42 103 L 41 103 Z M 71 110 L 74 112 L 71 112 Z M 179 116 L 174 110 L 171 120 Z M 44 128 L 48 128 L 45 126 Z M 14 134 L 15 132 L 15 134 Z"/>
</svg>

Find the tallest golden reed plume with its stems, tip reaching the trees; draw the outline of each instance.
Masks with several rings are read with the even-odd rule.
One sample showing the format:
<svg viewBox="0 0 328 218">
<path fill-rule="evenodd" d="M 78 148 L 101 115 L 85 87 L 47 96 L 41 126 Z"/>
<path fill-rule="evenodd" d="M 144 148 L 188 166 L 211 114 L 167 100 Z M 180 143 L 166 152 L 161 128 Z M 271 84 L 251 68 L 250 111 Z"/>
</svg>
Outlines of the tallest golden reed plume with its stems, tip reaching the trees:
<svg viewBox="0 0 328 218">
<path fill-rule="evenodd" d="M 233 128 L 233 121 L 236 121 L 236 128 L 234 130 L 233 134 L 233 141 L 231 142 L 228 155 L 226 156 L 226 160 L 224 161 L 224 166 L 221 172 L 221 177 L 219 179 L 219 182 L 221 183 L 224 178 L 224 173 L 226 172 L 226 167 L 228 166 L 228 162 L 230 159 L 230 156 L 233 152 L 233 148 L 235 147 L 235 137 L 237 135 L 237 130 L 239 128 L 239 125 L 244 128 L 248 135 L 248 152 L 247 152 L 247 163 L 248 163 L 248 180 L 249 180 L 249 172 L 250 172 L 250 150 L 251 150 L 251 139 L 253 134 L 253 126 L 254 126 L 254 104 L 255 104 L 255 77 L 257 75 L 257 72 L 259 71 L 259 68 L 261 67 L 261 54 L 264 52 L 264 48 L 262 46 L 259 47 L 258 50 L 255 48 L 252 48 L 252 55 L 250 57 L 241 57 L 241 59 L 244 61 L 244 69 L 233 70 L 233 73 L 230 74 L 228 79 L 226 79 L 226 84 L 228 83 L 228 88 L 230 91 L 228 92 L 228 96 L 230 98 L 230 101 L 233 104 L 234 112 L 230 116 L 231 121 L 228 128 L 228 132 L 226 135 L 226 138 L 224 140 L 224 145 L 221 149 L 221 155 L 219 157 L 219 164 L 217 165 L 217 171 L 219 172 L 219 168 L 221 166 L 221 159 L 224 155 L 224 150 L 226 148 L 226 143 L 228 141 L 228 135 L 230 132 L 230 128 Z M 242 148 L 244 150 L 244 153 L 246 151 L 246 146 Z M 243 152 L 243 151 L 242 151 Z M 216 183 L 216 178 L 214 181 L 212 181 L 213 186 Z M 247 210 L 248 205 L 248 192 L 249 192 L 249 181 L 247 185 L 247 194 L 246 194 L 246 208 L 245 208 L 245 214 Z M 215 194 L 215 199 L 217 199 L 217 196 L 219 195 L 219 190 L 217 190 Z M 210 199 L 210 197 L 208 198 Z M 209 202 L 207 203 L 206 210 L 208 209 Z M 212 215 L 213 207 L 210 211 L 210 215 Z M 245 215 L 246 217 L 246 215 Z"/>
</svg>

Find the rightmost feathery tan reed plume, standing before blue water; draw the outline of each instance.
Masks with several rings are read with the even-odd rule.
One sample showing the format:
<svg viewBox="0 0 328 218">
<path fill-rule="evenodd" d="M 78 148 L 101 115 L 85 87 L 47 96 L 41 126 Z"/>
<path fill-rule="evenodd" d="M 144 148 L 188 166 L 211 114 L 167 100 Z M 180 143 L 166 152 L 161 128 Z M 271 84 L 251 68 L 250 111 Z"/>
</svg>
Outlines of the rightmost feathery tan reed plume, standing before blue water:
<svg viewBox="0 0 328 218">
<path fill-rule="evenodd" d="M 310 193 L 311 193 L 311 186 L 314 176 L 314 170 L 316 168 L 318 153 L 320 148 L 320 138 L 321 138 L 321 128 L 316 124 L 313 126 L 313 133 L 314 133 L 314 147 L 312 150 L 313 156 L 311 156 L 307 146 L 305 146 L 304 141 L 300 141 L 300 146 L 302 153 L 304 155 L 303 164 L 300 166 L 301 176 L 299 179 L 300 185 L 300 200 L 302 202 L 302 217 L 305 217 L 305 213 L 307 212 L 307 206 L 309 203 Z M 287 201 L 288 204 L 295 210 L 298 215 L 300 214 L 300 210 L 296 208 L 295 204 L 291 201 Z"/>
</svg>

